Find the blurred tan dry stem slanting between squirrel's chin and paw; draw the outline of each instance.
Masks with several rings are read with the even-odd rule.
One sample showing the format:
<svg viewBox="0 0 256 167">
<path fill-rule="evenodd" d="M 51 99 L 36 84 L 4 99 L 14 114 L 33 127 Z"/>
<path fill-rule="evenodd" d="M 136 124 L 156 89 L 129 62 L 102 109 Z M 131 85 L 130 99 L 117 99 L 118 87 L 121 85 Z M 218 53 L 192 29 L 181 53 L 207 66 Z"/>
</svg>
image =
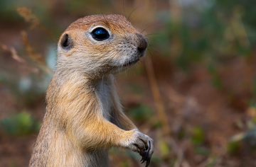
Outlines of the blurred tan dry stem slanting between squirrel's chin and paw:
<svg viewBox="0 0 256 167">
<path fill-rule="evenodd" d="M 152 65 L 152 61 L 150 57 L 147 57 L 145 59 L 145 67 L 146 67 L 146 74 L 149 77 L 149 83 L 151 86 L 151 91 L 154 96 L 154 101 L 156 105 L 156 111 L 159 117 L 159 120 L 163 123 L 164 127 L 164 134 L 170 134 L 171 129 L 169 128 L 169 123 L 167 120 L 167 115 L 164 109 L 164 103 L 163 100 L 161 99 L 160 91 L 159 91 L 159 86 L 157 85 L 156 81 L 156 76 L 154 74 L 154 67 Z"/>
</svg>

